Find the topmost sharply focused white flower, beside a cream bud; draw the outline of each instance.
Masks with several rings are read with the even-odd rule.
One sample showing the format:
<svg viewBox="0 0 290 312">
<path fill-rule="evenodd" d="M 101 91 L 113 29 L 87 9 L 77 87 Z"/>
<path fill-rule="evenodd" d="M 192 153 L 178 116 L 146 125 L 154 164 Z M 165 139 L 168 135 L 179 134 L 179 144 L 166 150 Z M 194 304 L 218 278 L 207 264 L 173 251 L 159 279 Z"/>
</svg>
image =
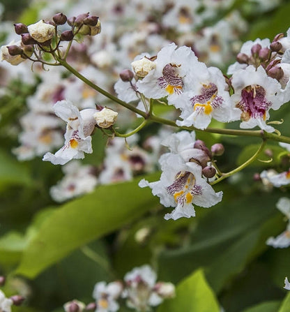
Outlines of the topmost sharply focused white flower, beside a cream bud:
<svg viewBox="0 0 290 312">
<path fill-rule="evenodd" d="M 146 98 L 167 97 L 169 104 L 185 91 L 184 77 L 199 61 L 190 47 L 178 47 L 171 43 L 157 54 L 156 68 L 137 82 L 138 91 Z"/>
</svg>

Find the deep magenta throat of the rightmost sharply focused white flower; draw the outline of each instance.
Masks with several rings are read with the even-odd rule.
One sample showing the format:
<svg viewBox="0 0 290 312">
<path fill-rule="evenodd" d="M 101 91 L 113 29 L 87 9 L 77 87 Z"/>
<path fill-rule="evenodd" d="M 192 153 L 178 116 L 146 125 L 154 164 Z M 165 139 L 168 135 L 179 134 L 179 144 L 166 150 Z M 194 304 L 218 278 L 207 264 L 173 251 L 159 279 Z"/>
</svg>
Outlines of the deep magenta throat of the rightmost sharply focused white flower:
<svg viewBox="0 0 290 312">
<path fill-rule="evenodd" d="M 247 86 L 242 90 L 241 101 L 236 107 L 242 110 L 242 121 L 248 121 L 250 118 L 263 118 L 266 120 L 266 111 L 272 105 L 267 101 L 266 91 L 259 84 Z"/>
</svg>

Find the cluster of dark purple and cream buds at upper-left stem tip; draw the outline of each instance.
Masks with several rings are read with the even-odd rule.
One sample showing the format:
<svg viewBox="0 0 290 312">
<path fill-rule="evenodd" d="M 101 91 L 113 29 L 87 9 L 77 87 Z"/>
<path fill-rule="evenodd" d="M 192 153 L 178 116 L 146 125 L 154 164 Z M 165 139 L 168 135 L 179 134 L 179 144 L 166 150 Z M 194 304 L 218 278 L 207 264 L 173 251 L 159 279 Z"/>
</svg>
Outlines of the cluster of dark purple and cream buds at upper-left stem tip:
<svg viewBox="0 0 290 312">
<path fill-rule="evenodd" d="M 58 31 L 59 25 L 67 24 L 68 29 Z M 82 36 L 96 36 L 100 34 L 100 20 L 97 16 L 84 13 L 77 17 L 66 17 L 63 13 L 57 13 L 52 20 L 40 20 L 35 24 L 26 26 L 22 23 L 14 24 L 15 33 L 21 36 L 17 43 L 8 43 L 1 47 L 2 60 L 12 65 L 18 65 L 26 59 L 31 59 L 33 51 L 40 54 L 47 52 L 53 54 L 62 41 L 72 41 L 77 34 Z M 36 59 L 41 61 L 40 54 L 35 54 Z"/>
</svg>

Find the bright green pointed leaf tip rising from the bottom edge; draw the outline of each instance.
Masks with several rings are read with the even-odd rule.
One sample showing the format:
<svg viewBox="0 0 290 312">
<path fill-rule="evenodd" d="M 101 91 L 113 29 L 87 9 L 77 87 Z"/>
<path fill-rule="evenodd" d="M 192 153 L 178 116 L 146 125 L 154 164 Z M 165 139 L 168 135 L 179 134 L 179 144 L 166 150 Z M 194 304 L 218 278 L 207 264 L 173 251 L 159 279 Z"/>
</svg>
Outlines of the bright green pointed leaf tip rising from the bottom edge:
<svg viewBox="0 0 290 312">
<path fill-rule="evenodd" d="M 220 307 L 201 269 L 181 281 L 176 297 L 166 300 L 158 312 L 219 312 Z"/>
</svg>

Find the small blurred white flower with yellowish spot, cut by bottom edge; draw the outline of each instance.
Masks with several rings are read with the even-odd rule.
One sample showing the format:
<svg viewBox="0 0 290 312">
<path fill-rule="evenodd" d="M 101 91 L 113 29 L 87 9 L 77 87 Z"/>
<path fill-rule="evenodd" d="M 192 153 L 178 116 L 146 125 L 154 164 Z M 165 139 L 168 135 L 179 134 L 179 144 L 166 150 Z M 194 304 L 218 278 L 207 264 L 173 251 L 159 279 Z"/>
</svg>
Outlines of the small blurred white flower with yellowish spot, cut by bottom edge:
<svg viewBox="0 0 290 312">
<path fill-rule="evenodd" d="M 123 285 L 116 281 L 112 283 L 99 282 L 93 289 L 93 298 L 96 299 L 96 312 L 115 312 L 119 310 L 116 302 L 121 295 Z"/>
</svg>

